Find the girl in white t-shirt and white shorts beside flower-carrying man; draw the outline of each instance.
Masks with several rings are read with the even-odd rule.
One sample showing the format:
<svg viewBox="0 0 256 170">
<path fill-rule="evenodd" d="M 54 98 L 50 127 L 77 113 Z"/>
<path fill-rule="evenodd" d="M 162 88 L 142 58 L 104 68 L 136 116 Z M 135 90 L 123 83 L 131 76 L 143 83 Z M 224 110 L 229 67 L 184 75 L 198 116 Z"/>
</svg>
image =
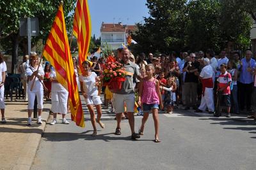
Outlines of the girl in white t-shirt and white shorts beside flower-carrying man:
<svg viewBox="0 0 256 170">
<path fill-rule="evenodd" d="M 93 109 L 93 105 L 95 105 L 97 109 L 97 123 L 99 123 L 100 127 L 104 128 L 105 125 L 100 121 L 102 111 L 101 111 L 101 105 L 102 102 L 100 100 L 100 97 L 98 95 L 98 87 L 97 84 L 99 83 L 100 79 L 97 77 L 97 74 L 95 72 L 92 72 L 90 69 L 90 66 L 92 66 L 88 61 L 84 61 L 83 64 L 83 75 L 79 76 L 79 81 L 81 84 L 81 92 L 85 99 L 85 104 L 88 107 L 88 110 L 90 112 L 90 117 L 92 121 L 93 126 L 93 134 L 92 136 L 97 135 L 97 128 L 96 128 L 96 121 L 95 121 L 95 113 Z"/>
</svg>

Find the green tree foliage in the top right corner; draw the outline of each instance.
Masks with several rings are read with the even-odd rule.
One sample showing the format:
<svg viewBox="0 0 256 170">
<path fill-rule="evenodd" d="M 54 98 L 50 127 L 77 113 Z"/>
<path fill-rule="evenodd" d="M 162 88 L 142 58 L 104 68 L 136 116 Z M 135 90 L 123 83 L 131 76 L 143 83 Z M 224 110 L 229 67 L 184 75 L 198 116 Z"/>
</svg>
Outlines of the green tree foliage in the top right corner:
<svg viewBox="0 0 256 170">
<path fill-rule="evenodd" d="M 221 37 L 235 49 L 246 49 L 250 45 L 252 19 L 256 19 L 256 1 L 227 0 L 221 2 Z M 254 5 L 254 6 L 253 6 Z M 252 8 L 253 6 L 253 8 Z"/>
</svg>

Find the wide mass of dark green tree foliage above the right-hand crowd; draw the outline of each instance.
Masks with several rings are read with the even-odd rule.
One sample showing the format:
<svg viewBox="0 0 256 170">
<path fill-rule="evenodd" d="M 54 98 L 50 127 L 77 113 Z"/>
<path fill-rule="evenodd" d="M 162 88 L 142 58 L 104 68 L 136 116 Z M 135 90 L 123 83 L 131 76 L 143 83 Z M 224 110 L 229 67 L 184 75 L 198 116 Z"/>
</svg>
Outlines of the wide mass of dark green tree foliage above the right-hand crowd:
<svg viewBox="0 0 256 170">
<path fill-rule="evenodd" d="M 136 51 L 216 51 L 227 47 L 248 47 L 252 13 L 256 1 L 240 0 L 148 0 L 150 17 L 134 37 Z M 254 6 L 252 8 L 252 6 Z M 256 17 L 256 15 L 255 15 Z"/>
</svg>

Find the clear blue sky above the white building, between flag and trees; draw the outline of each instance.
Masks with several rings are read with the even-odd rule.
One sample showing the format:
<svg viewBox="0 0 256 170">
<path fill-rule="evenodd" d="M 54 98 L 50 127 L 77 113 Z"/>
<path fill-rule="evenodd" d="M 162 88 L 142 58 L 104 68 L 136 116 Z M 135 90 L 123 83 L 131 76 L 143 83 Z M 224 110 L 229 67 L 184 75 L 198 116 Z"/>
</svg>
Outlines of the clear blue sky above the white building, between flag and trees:
<svg viewBox="0 0 256 170">
<path fill-rule="evenodd" d="M 135 24 L 143 22 L 143 17 L 148 17 L 146 0 L 88 0 L 91 19 L 92 36 L 100 36 L 102 22 Z M 115 18 L 115 19 L 114 19 Z"/>
</svg>

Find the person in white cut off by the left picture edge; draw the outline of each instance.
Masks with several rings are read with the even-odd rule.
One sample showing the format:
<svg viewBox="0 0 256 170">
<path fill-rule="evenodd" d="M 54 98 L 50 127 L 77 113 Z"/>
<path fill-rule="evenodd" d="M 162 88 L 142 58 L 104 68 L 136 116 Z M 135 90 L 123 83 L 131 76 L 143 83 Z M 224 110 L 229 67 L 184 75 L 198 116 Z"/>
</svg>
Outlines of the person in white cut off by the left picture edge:
<svg viewBox="0 0 256 170">
<path fill-rule="evenodd" d="M 0 109 L 2 114 L 2 121 L 1 123 L 6 123 L 6 119 L 4 118 L 4 81 L 5 81 L 5 75 L 6 75 L 6 63 L 3 59 L 3 54 L 0 53 Z"/>
</svg>

